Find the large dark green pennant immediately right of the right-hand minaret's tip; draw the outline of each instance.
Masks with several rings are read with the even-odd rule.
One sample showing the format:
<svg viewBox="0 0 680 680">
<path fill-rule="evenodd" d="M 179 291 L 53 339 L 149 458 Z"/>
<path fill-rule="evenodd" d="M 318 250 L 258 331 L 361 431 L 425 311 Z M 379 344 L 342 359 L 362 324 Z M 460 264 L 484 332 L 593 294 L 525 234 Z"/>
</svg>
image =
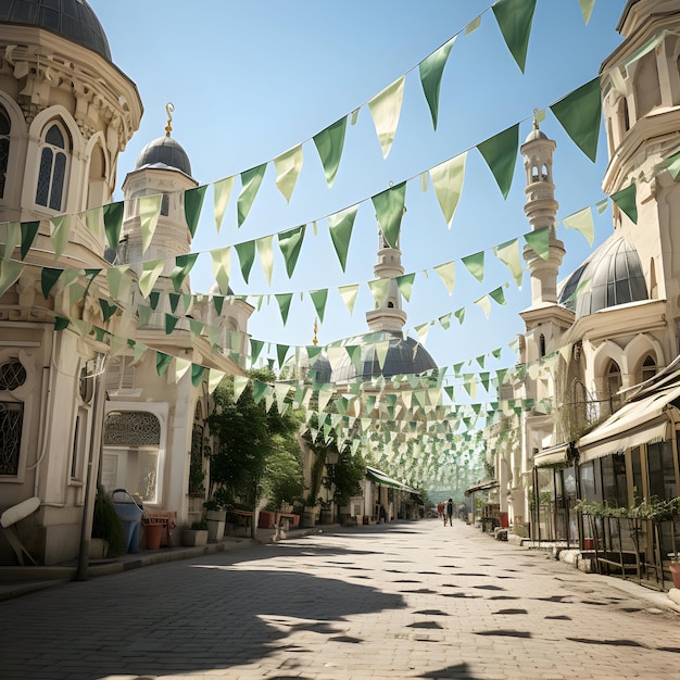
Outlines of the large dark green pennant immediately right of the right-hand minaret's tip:
<svg viewBox="0 0 680 680">
<path fill-rule="evenodd" d="M 600 77 L 563 97 L 551 111 L 576 146 L 594 163 L 602 118 Z"/>
</svg>

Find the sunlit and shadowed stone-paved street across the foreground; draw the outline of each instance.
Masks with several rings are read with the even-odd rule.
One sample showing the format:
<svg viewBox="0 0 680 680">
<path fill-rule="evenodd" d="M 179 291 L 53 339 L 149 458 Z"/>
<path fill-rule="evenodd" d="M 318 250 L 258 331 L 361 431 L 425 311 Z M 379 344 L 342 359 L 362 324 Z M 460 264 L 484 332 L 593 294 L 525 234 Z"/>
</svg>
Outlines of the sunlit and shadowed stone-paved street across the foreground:
<svg viewBox="0 0 680 680">
<path fill-rule="evenodd" d="M 678 678 L 642 588 L 461 521 L 316 533 L 0 603 L 17 680 Z"/>
</svg>

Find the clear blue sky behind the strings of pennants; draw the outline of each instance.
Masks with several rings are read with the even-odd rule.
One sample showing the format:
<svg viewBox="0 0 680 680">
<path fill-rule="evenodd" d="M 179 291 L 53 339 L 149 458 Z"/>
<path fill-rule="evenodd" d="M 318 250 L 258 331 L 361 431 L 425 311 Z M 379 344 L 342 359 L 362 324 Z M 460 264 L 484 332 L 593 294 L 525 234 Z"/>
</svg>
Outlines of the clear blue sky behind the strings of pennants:
<svg viewBox="0 0 680 680">
<path fill-rule="evenodd" d="M 489 0 L 90 0 L 90 4 L 106 32 L 114 63 L 137 84 L 144 105 L 141 127 L 119 160 L 117 198 L 141 148 L 164 134 L 167 101 L 175 105 L 173 137 L 189 154 L 200 184 L 238 175 L 304 142 L 304 166 L 290 204 L 276 189 L 270 165 L 240 229 L 236 227 L 237 179 L 217 235 L 209 190 L 193 249 L 234 244 L 308 224 L 291 280 L 275 239 L 272 285 L 257 260 L 245 285 L 234 254 L 231 288 L 237 293 L 331 289 L 319 324 L 319 342 L 326 344 L 367 330 L 364 313 L 373 305 L 368 288 L 361 287 L 353 315 L 337 288 L 374 278 L 378 241 L 369 198 L 390 181 L 416 178 L 407 184 L 401 236 L 405 270 L 416 273 L 411 302 L 405 304 L 406 327 L 464 306 L 462 325 L 454 319 L 449 330 L 437 323 L 430 328 L 426 347 L 438 365 L 474 362 L 498 348 L 504 348 L 503 354 L 499 361 L 489 357 L 487 369 L 515 363 L 507 344 L 522 329 L 517 313 L 530 304 L 529 277 L 525 273 L 518 290 L 490 249 L 529 231 L 522 212 L 524 171 L 518 158 L 509 196 L 503 200 L 474 147 L 520 121 L 524 140 L 534 106 L 546 108 L 595 77 L 603 59 L 620 42 L 615 27 L 624 0 L 597 0 L 588 25 L 578 0 L 539 0 L 524 75 L 492 12 L 487 11 Z M 451 51 L 435 133 L 416 66 L 482 13 L 480 27 L 461 35 Z M 365 104 L 407 72 L 400 125 L 383 160 Z M 311 138 L 360 106 L 356 125 L 348 127 L 335 185 L 328 189 Z M 594 205 L 603 198 L 601 178 L 607 155 L 603 131 L 593 164 L 550 111 L 541 128 L 557 142 L 558 218 Z M 467 149 L 471 151 L 465 187 L 449 230 L 431 186 L 423 193 L 417 178 Z M 358 202 L 363 203 L 343 273 L 322 218 Z M 316 219 L 318 236 L 314 237 Z M 596 245 L 610 234 L 610 211 L 596 218 L 595 228 Z M 561 270 L 566 277 L 590 248 L 574 230 L 558 227 L 558 237 L 567 248 Z M 432 267 L 482 250 L 487 251 L 484 280 L 478 282 L 456 262 L 455 289 L 449 297 Z M 474 301 L 506 281 L 511 282 L 505 289 L 507 304 L 492 303 L 487 319 Z M 201 259 L 192 273 L 192 288 L 206 291 L 212 282 L 210 260 Z M 284 327 L 272 299 L 253 314 L 249 330 L 273 343 L 310 344 L 315 315 L 308 295 L 302 300 L 297 295 Z M 476 364 L 469 369 L 475 368 Z"/>
</svg>

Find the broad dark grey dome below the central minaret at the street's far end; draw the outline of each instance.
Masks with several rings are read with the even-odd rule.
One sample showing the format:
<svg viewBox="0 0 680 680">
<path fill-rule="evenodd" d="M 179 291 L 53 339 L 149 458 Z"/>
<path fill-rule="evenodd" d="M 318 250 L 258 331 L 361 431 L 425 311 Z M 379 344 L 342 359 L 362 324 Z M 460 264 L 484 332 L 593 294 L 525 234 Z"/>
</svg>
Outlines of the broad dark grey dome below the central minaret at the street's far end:
<svg viewBox="0 0 680 680">
<path fill-rule="evenodd" d="M 376 344 L 389 341 L 389 348 L 385 364 L 380 368 L 378 355 L 376 354 Z M 405 338 L 400 332 L 378 332 L 362 336 L 357 342 L 348 342 L 348 345 L 362 344 L 361 372 L 357 373 L 356 366 L 349 356 L 339 361 L 332 372 L 332 382 L 343 382 L 360 378 L 362 380 L 370 380 L 383 376 L 391 378 L 393 376 L 420 374 L 426 370 L 437 368 L 435 360 L 430 353 L 413 338 Z"/>
</svg>

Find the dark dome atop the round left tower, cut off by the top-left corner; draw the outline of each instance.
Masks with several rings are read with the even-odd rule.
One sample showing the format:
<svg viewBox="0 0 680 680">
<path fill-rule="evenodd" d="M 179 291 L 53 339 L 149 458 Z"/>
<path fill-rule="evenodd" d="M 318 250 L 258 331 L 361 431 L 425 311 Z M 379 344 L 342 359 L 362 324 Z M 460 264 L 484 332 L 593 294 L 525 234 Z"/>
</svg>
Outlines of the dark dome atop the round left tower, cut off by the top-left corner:
<svg viewBox="0 0 680 680">
<path fill-rule="evenodd" d="M 0 24 L 38 26 L 111 61 L 106 34 L 85 0 L 0 0 Z"/>
</svg>

